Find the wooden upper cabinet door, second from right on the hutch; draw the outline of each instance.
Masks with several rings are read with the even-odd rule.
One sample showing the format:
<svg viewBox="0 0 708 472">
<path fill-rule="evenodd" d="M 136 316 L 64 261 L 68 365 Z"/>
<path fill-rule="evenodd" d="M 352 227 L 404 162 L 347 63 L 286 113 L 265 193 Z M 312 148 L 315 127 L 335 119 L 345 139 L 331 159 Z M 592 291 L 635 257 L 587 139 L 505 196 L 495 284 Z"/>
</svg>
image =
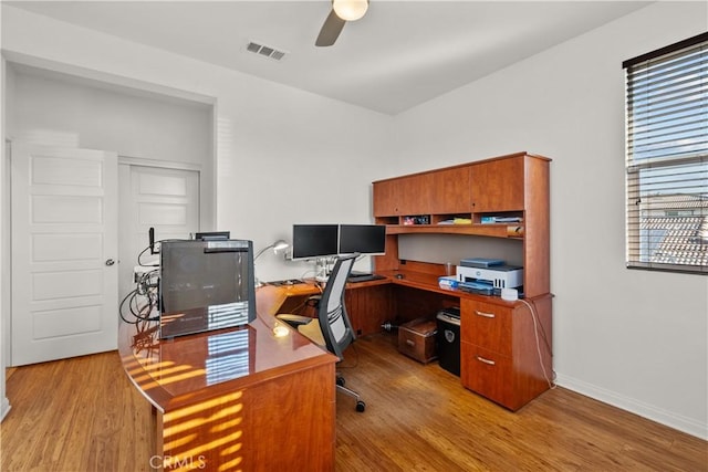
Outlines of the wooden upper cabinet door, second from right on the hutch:
<svg viewBox="0 0 708 472">
<path fill-rule="evenodd" d="M 433 195 L 430 213 L 451 214 L 470 212 L 470 166 L 437 170 L 430 174 Z"/>
</svg>

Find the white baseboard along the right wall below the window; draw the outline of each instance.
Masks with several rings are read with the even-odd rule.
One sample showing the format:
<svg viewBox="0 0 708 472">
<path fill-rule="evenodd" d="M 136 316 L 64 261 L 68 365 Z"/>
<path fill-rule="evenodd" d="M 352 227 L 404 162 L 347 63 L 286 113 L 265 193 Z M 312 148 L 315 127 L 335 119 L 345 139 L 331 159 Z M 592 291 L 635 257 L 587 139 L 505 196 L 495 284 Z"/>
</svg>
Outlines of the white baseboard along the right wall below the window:
<svg viewBox="0 0 708 472">
<path fill-rule="evenodd" d="M 615 391 L 606 390 L 592 384 L 584 382 L 576 378 L 558 375 L 555 384 L 569 390 L 576 391 L 595 400 L 602 401 L 613 407 L 656 421 L 669 428 L 683 431 L 700 439 L 708 440 L 708 423 L 701 423 L 693 418 L 687 418 L 675 412 L 657 408 L 635 398 L 618 395 Z"/>
</svg>

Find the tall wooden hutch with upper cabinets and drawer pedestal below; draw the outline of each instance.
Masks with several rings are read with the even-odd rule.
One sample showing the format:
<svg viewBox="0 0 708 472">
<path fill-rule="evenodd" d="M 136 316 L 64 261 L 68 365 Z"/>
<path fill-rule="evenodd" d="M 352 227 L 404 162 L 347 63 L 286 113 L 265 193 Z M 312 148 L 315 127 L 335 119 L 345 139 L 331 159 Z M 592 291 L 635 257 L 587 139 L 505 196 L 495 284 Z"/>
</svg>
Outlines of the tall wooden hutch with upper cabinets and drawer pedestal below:
<svg viewBox="0 0 708 472">
<path fill-rule="evenodd" d="M 549 165 L 545 157 L 518 153 L 373 182 L 374 217 L 387 225 L 386 255 L 375 258 L 375 272 L 403 272 L 405 279 L 391 280 L 408 287 L 394 296 L 398 304 L 394 310 L 420 305 L 425 298 L 416 295 L 416 281 L 423 284 L 425 279 L 416 272 L 434 276 L 427 279 L 424 290 L 444 274 L 438 264 L 402 261 L 400 234 L 466 234 L 512 239 L 521 244 L 523 301 L 458 291 L 445 297 L 445 290 L 440 290 L 442 305 L 460 306 L 462 385 L 511 410 L 551 384 Z M 482 223 L 482 217 L 490 216 L 518 217 L 520 222 Z M 412 217 L 427 224 L 405 224 Z M 455 219 L 471 222 L 440 224 Z"/>
</svg>

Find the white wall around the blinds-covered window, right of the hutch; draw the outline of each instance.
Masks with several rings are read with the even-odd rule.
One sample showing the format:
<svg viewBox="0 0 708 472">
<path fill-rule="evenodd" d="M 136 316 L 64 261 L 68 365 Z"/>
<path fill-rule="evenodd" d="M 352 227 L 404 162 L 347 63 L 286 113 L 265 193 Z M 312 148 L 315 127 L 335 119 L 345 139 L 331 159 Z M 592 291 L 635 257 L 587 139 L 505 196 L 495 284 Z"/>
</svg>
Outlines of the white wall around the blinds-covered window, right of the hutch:
<svg viewBox="0 0 708 472">
<path fill-rule="evenodd" d="M 519 150 L 553 159 L 558 382 L 702 438 L 708 279 L 624 266 L 622 61 L 707 19 L 705 2 L 656 3 L 396 119 L 406 171 Z"/>
</svg>

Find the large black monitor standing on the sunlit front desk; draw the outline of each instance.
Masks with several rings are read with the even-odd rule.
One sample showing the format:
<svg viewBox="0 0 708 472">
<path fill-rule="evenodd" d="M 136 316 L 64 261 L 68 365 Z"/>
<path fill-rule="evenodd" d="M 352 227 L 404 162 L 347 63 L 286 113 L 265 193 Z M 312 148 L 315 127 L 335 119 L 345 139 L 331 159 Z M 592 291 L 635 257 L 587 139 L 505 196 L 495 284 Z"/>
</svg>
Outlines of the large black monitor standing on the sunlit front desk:
<svg viewBox="0 0 708 472">
<path fill-rule="evenodd" d="M 159 254 L 162 338 L 256 318 L 251 241 L 165 241 Z"/>
</svg>

